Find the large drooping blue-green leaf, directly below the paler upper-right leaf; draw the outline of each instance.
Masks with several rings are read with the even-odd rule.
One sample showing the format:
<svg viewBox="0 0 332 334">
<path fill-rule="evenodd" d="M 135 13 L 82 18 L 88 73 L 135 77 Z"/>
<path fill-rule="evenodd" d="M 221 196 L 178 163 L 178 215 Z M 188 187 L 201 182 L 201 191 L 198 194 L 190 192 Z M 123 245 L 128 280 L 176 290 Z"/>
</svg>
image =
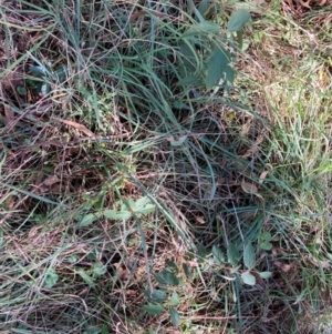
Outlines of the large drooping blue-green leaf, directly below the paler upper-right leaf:
<svg viewBox="0 0 332 334">
<path fill-rule="evenodd" d="M 226 50 L 218 48 L 212 52 L 207 61 L 207 88 L 212 88 L 217 83 L 217 81 L 220 80 L 228 63 L 229 58 Z"/>
</svg>

